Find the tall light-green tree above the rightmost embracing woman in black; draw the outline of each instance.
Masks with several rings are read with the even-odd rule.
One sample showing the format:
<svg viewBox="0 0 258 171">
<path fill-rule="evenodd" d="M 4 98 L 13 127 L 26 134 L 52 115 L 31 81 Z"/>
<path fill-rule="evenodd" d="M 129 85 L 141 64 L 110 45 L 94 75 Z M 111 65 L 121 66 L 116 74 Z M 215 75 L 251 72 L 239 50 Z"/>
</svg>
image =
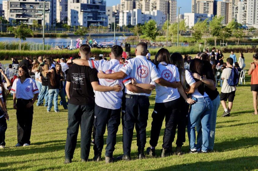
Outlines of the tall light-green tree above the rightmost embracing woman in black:
<svg viewBox="0 0 258 171">
<path fill-rule="evenodd" d="M 212 36 L 214 36 L 214 43 L 215 47 L 217 45 L 217 37 L 220 36 L 220 31 L 222 29 L 222 20 L 224 19 L 223 16 L 215 16 L 209 22 L 209 30 Z"/>
</svg>

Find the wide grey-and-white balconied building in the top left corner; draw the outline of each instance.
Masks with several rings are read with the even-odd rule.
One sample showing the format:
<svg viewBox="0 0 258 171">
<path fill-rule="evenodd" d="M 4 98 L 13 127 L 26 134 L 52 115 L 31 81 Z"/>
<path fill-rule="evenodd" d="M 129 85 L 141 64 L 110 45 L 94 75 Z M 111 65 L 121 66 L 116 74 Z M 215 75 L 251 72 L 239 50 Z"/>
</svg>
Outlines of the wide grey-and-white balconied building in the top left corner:
<svg viewBox="0 0 258 171">
<path fill-rule="evenodd" d="M 44 2 L 27 0 L 9 0 L 3 1 L 3 10 L 5 11 L 5 19 L 10 23 L 19 23 L 32 25 L 33 21 L 43 25 L 43 9 Z M 51 2 L 45 2 L 45 25 L 51 26 Z"/>
</svg>

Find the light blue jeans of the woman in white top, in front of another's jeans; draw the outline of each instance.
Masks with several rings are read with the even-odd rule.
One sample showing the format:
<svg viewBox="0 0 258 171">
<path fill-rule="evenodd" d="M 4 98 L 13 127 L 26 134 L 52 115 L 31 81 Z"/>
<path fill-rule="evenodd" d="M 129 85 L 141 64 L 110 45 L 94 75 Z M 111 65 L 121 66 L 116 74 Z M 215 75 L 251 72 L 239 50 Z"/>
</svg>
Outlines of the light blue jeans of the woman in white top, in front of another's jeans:
<svg viewBox="0 0 258 171">
<path fill-rule="evenodd" d="M 197 98 L 196 103 L 191 105 L 188 115 L 187 133 L 191 150 L 197 150 L 195 144 L 195 126 L 200 119 L 202 124 L 202 151 L 207 152 L 209 146 L 209 119 L 213 110 L 212 101 L 209 97 Z"/>
</svg>

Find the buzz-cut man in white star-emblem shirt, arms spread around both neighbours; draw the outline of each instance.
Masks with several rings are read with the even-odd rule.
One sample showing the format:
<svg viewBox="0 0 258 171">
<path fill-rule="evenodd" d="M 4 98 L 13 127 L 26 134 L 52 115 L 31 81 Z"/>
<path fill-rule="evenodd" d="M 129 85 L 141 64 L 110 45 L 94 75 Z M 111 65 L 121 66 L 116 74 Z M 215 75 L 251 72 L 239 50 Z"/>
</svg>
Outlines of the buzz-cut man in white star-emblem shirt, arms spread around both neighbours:
<svg viewBox="0 0 258 171">
<path fill-rule="evenodd" d="M 129 87 L 134 79 L 137 87 L 152 90 L 154 82 L 162 86 L 177 88 L 176 82 L 168 82 L 160 77 L 156 66 L 147 60 L 147 44 L 138 43 L 135 49 L 136 57 L 127 60 L 120 72 L 105 74 L 98 73 L 99 78 L 122 79 L 125 85 L 125 113 L 122 114 L 123 123 L 123 156 L 118 159 L 130 160 L 131 145 L 133 138 L 134 125 L 137 133 L 138 159 L 145 158 L 144 147 L 146 144 L 146 126 L 149 111 L 149 96 L 151 93 L 136 93 L 133 88 Z"/>
</svg>

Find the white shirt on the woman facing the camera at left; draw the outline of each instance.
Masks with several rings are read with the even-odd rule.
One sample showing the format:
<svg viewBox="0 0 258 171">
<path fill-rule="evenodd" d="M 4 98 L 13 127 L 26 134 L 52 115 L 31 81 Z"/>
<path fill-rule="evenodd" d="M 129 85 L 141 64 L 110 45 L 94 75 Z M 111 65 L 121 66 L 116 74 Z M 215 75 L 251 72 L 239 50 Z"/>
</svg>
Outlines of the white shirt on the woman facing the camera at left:
<svg viewBox="0 0 258 171">
<path fill-rule="evenodd" d="M 15 93 L 16 98 L 29 100 L 34 97 L 34 94 L 39 93 L 39 91 L 35 80 L 31 78 L 26 78 L 26 80 L 21 83 L 20 78 L 16 78 L 13 81 L 11 93 Z"/>
</svg>

